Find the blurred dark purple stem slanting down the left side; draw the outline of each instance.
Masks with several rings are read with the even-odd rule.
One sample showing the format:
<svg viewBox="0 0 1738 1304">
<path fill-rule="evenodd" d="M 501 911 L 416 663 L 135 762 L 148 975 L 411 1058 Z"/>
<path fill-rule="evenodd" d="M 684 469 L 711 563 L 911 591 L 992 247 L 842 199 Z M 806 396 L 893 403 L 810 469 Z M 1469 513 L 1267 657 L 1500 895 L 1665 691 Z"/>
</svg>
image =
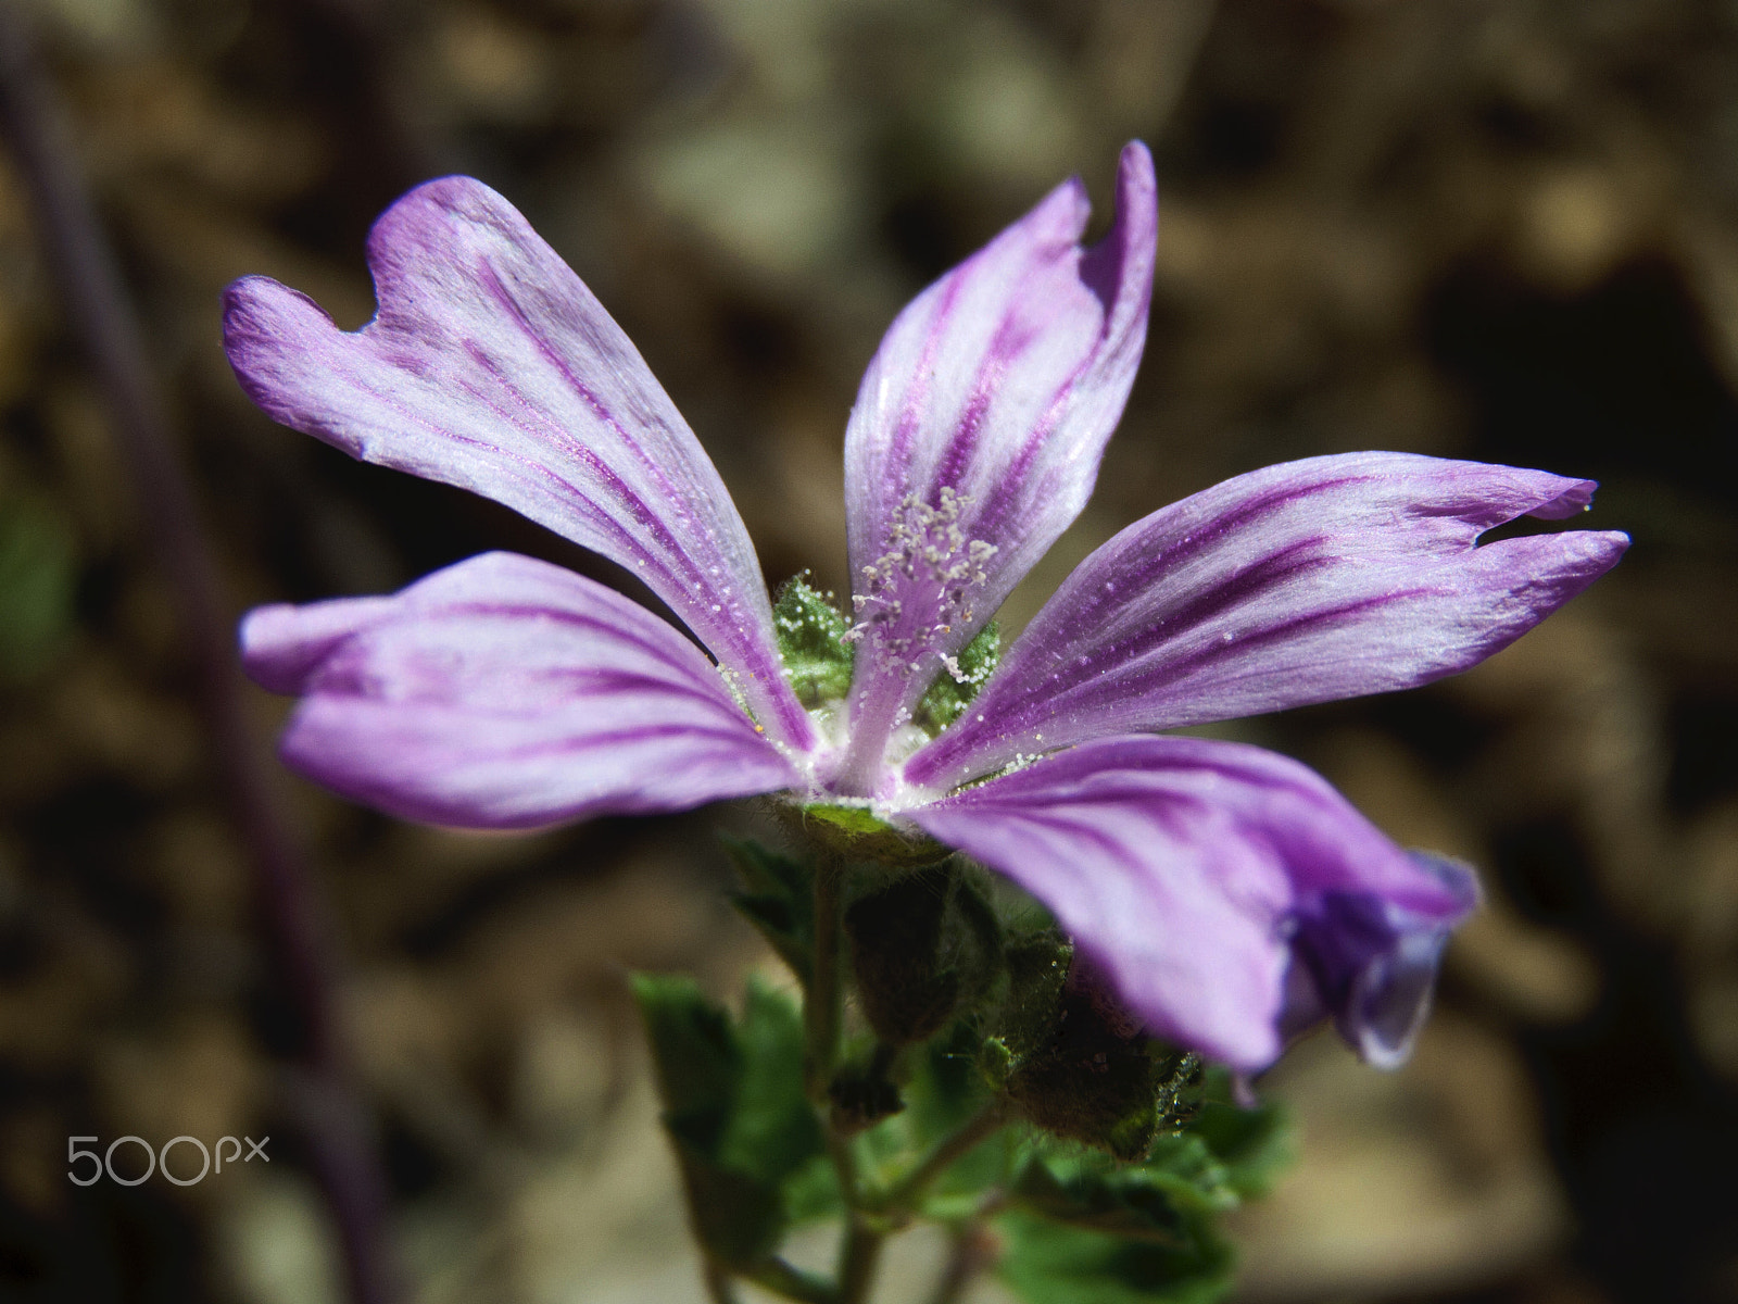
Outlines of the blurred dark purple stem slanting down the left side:
<svg viewBox="0 0 1738 1304">
<path fill-rule="evenodd" d="M 31 193 L 68 320 L 103 386 L 139 508 L 186 636 L 217 779 L 249 848 L 275 972 L 301 1022 L 287 1094 L 344 1243 L 351 1299 L 398 1297 L 384 1238 L 386 1186 L 351 1087 L 334 1012 L 332 951 L 301 847 L 243 711 L 229 621 L 113 252 L 83 190 L 59 103 L 24 19 L 0 0 L 0 123 Z"/>
</svg>

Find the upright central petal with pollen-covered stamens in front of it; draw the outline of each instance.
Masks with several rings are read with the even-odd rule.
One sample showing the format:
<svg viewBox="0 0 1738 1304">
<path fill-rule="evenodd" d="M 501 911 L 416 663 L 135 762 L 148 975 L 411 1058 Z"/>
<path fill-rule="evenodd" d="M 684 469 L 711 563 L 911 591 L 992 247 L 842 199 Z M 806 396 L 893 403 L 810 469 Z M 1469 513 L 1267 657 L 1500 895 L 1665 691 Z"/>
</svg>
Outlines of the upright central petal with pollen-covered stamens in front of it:
<svg viewBox="0 0 1738 1304">
<path fill-rule="evenodd" d="M 852 690 L 866 781 L 909 708 L 1079 515 L 1135 381 L 1158 230 L 1152 158 L 1123 150 L 1093 249 L 1074 179 L 919 294 L 845 433 Z"/>
</svg>

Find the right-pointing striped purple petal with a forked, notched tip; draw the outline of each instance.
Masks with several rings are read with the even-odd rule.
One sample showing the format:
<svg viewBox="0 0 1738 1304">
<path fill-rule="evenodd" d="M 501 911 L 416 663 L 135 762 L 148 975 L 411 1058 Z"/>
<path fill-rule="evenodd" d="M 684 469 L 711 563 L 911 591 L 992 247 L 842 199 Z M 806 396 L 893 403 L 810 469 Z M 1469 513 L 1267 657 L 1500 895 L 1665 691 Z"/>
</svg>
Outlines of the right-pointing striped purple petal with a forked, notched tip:
<svg viewBox="0 0 1738 1304">
<path fill-rule="evenodd" d="M 1410 689 L 1467 669 L 1616 565 L 1629 537 L 1561 518 L 1589 480 L 1394 452 L 1215 485 L 1088 556 L 959 722 L 905 767 L 942 791 L 1020 753 Z"/>
</svg>

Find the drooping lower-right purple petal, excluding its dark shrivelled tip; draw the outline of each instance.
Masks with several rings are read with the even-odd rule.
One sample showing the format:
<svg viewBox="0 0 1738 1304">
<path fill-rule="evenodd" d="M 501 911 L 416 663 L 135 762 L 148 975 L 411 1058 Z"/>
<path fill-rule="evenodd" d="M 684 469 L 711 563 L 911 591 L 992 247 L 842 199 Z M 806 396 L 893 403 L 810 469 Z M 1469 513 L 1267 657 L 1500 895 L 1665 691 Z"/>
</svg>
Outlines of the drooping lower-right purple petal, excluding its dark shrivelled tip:
<svg viewBox="0 0 1738 1304">
<path fill-rule="evenodd" d="M 1147 1028 L 1243 1071 L 1279 1055 L 1297 939 L 1331 941 L 1335 902 L 1444 932 L 1470 904 L 1321 775 L 1236 742 L 1098 739 L 902 814 L 1045 902 Z"/>
</svg>

